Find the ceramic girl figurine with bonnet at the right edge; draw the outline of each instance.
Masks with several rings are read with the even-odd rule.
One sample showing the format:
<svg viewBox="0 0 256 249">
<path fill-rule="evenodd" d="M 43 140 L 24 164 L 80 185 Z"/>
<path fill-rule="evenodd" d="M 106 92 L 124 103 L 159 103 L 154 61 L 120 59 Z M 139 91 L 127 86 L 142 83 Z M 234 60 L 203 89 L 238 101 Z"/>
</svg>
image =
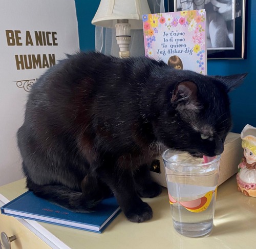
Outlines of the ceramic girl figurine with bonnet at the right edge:
<svg viewBox="0 0 256 249">
<path fill-rule="evenodd" d="M 256 128 L 246 125 L 241 132 L 244 156 L 238 166 L 238 190 L 256 197 Z"/>
</svg>

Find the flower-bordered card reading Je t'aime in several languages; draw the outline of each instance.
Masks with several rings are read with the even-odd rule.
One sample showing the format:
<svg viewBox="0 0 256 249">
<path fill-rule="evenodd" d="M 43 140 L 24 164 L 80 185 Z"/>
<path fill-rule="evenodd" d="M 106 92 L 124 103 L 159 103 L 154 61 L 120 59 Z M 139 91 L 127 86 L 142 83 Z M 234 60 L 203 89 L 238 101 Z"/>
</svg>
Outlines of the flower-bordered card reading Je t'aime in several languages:
<svg viewBox="0 0 256 249">
<path fill-rule="evenodd" d="M 147 14 L 142 19 L 147 57 L 207 74 L 205 10 Z"/>
</svg>

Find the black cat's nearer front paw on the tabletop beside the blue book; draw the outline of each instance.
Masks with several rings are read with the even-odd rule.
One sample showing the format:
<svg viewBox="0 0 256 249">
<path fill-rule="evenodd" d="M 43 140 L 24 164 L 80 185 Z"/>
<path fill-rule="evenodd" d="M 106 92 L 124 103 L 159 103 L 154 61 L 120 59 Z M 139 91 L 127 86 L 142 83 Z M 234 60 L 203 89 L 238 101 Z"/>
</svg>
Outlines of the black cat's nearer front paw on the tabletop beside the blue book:
<svg viewBox="0 0 256 249">
<path fill-rule="evenodd" d="M 152 208 L 146 202 L 142 201 L 140 205 L 136 205 L 136 207 L 127 210 L 124 214 L 127 219 L 137 223 L 150 220 L 153 217 Z"/>
</svg>

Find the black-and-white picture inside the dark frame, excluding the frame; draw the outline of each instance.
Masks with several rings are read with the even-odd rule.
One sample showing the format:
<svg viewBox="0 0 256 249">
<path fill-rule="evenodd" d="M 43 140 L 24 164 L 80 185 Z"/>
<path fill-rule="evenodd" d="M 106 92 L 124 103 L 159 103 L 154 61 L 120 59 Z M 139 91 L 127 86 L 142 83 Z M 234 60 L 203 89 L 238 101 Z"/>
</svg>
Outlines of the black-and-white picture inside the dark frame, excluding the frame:
<svg viewBox="0 0 256 249">
<path fill-rule="evenodd" d="M 177 0 L 178 10 L 206 10 L 207 49 L 233 47 L 233 30 L 229 32 L 227 27 L 228 18 L 232 19 L 232 13 L 228 14 L 230 7 L 232 0 Z"/>
</svg>

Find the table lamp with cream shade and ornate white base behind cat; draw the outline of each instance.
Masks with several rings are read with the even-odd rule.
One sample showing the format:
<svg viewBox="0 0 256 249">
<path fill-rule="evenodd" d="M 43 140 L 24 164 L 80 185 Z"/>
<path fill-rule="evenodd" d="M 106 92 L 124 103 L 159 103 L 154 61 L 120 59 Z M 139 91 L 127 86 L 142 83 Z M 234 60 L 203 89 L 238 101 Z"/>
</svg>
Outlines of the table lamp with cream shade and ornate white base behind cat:
<svg viewBox="0 0 256 249">
<path fill-rule="evenodd" d="M 101 0 L 92 24 L 116 29 L 119 57 L 130 56 L 131 29 L 143 29 L 142 14 L 150 14 L 147 0 Z"/>
</svg>

